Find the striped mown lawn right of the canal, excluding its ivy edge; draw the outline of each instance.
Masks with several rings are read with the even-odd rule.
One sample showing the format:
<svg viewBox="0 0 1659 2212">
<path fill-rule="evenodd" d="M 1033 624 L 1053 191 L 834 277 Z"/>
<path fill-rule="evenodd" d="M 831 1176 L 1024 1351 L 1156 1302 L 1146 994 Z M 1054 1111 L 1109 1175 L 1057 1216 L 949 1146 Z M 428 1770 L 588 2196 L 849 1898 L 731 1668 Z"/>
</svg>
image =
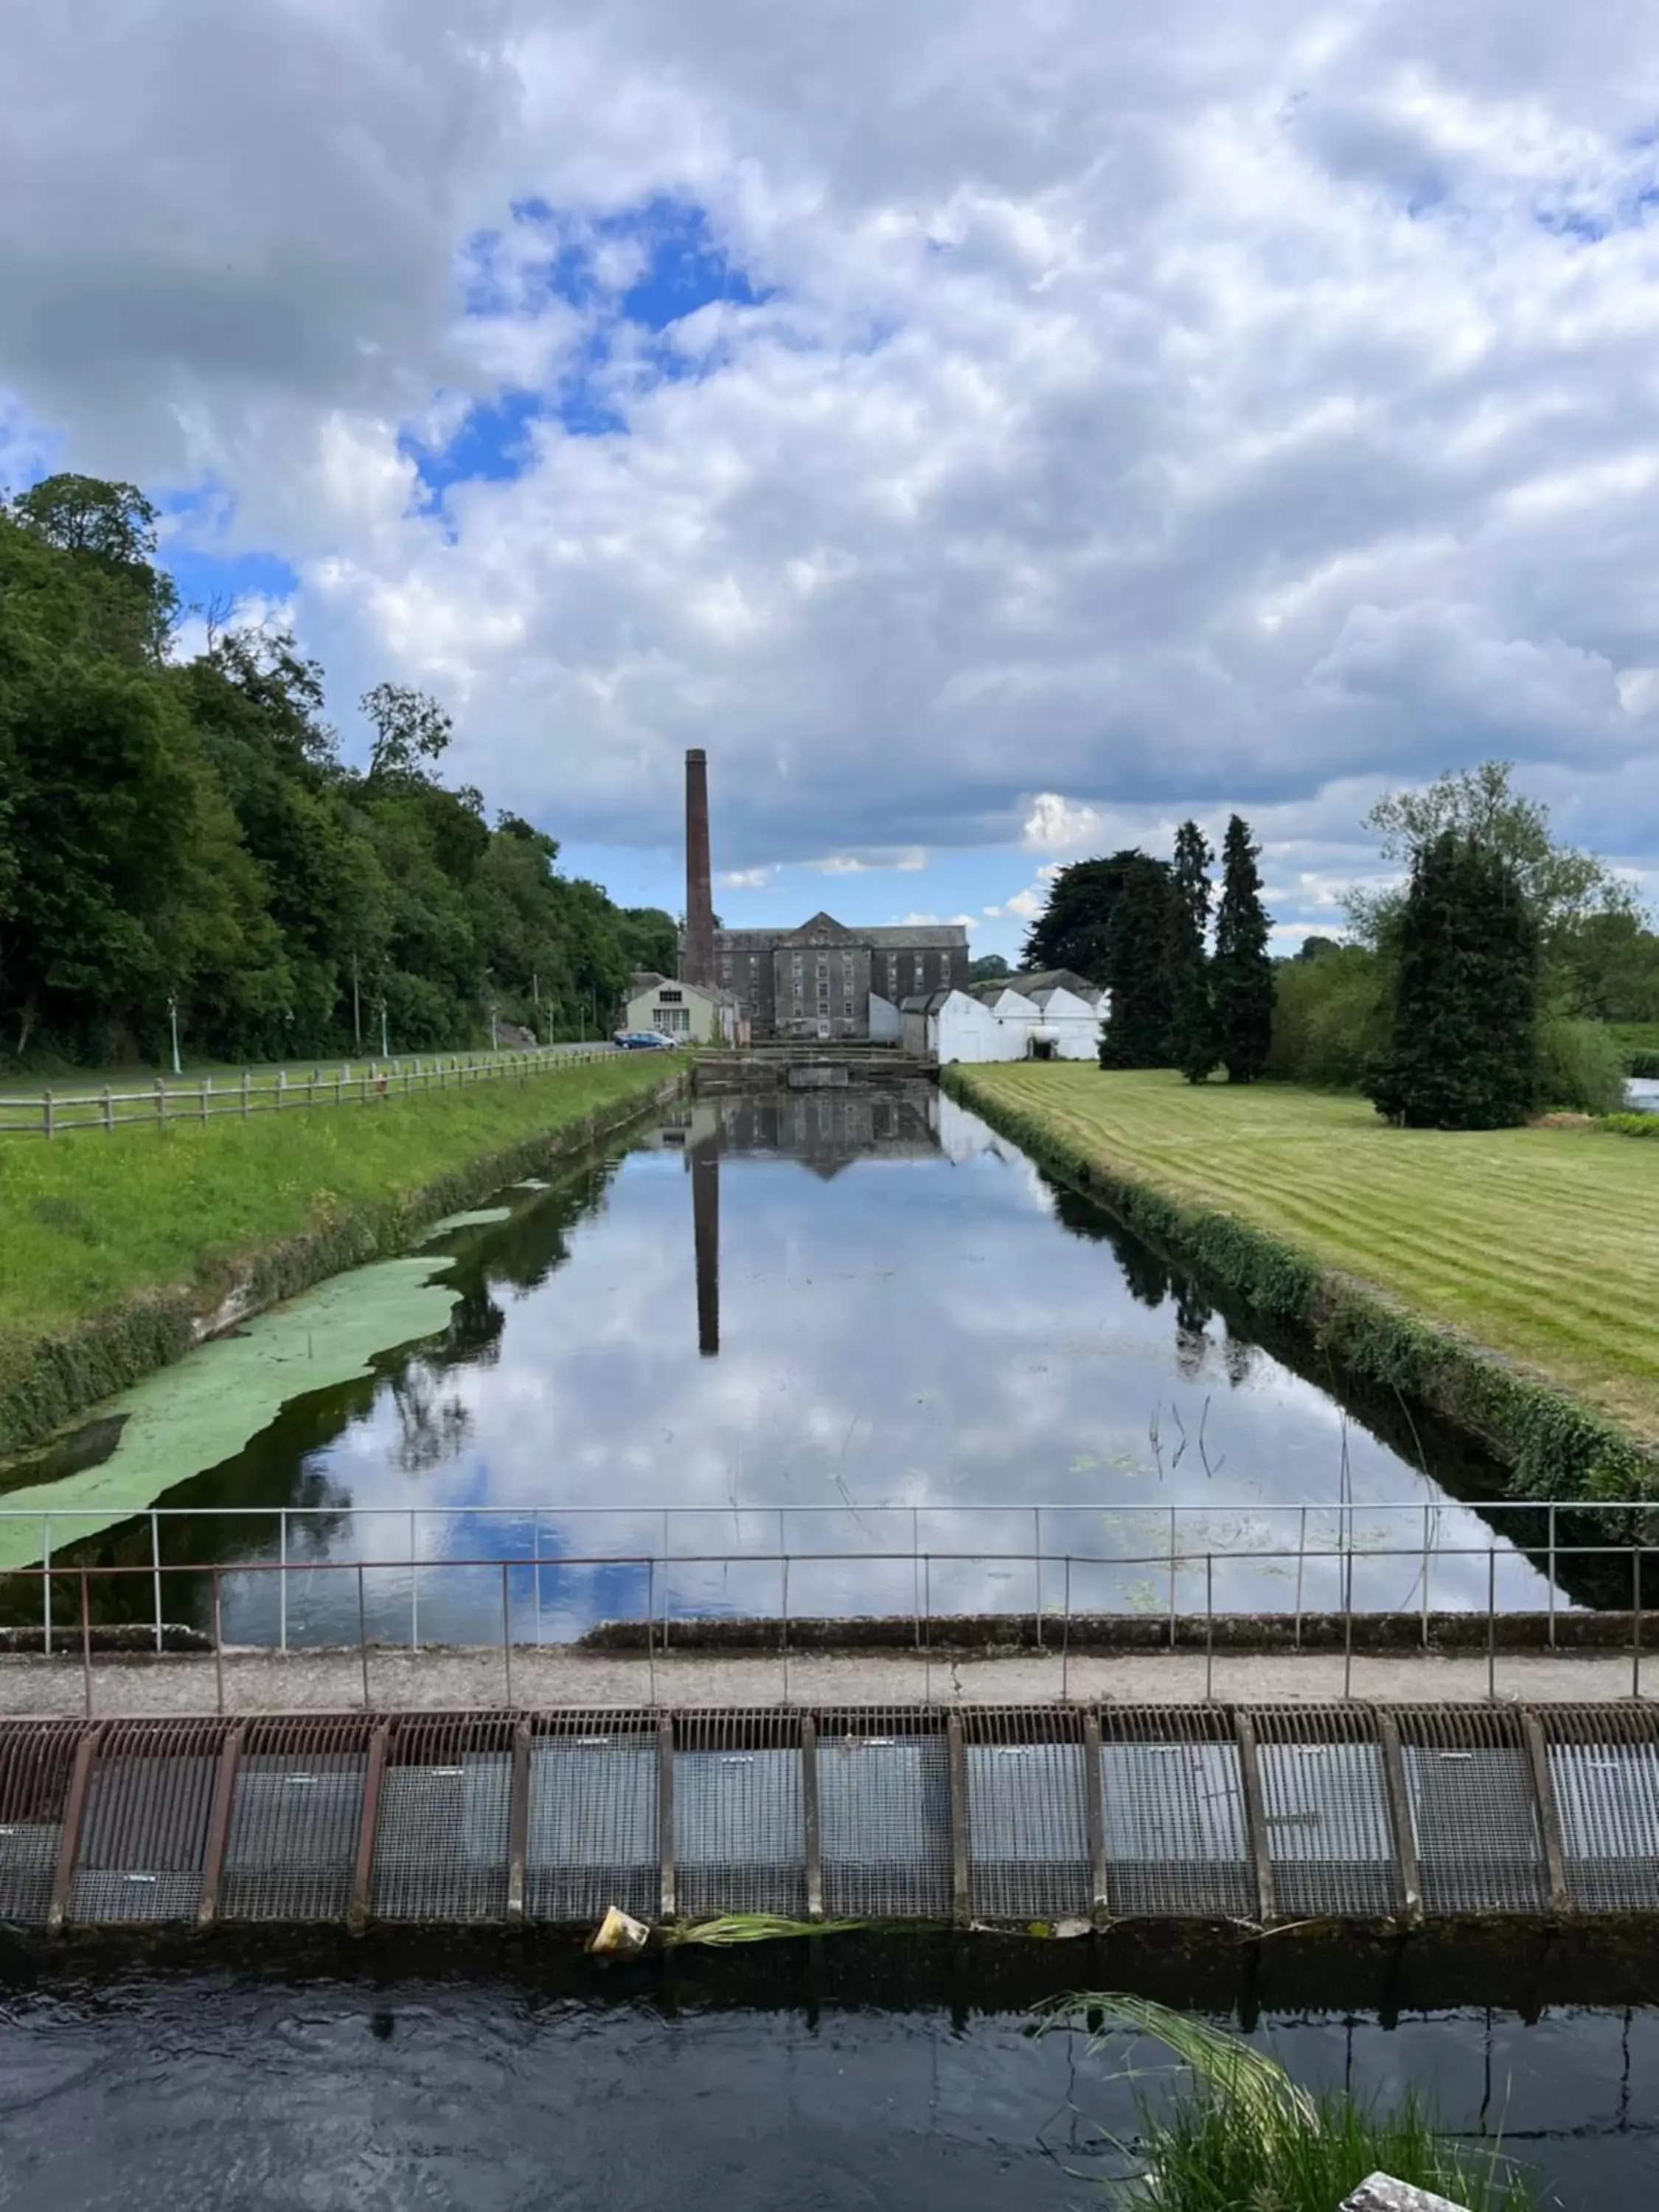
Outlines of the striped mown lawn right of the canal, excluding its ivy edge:
<svg viewBox="0 0 1659 2212">
<path fill-rule="evenodd" d="M 975 1066 L 1055 1144 L 1230 1212 L 1659 1440 L 1659 1146 L 1396 1130 L 1365 1099 L 1095 1066 Z"/>
</svg>

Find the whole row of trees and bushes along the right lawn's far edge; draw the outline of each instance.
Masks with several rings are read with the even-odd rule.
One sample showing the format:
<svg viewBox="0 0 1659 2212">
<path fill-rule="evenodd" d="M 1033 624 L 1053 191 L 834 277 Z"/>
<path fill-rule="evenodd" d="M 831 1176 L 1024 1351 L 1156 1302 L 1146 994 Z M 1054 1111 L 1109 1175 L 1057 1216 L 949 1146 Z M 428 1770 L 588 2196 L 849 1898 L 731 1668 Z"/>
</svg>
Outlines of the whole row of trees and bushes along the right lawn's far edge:
<svg viewBox="0 0 1659 2212">
<path fill-rule="evenodd" d="M 1026 964 L 1110 991 L 1104 1066 L 1197 1082 L 1221 1064 L 1234 1082 L 1360 1091 L 1433 1128 L 1615 1110 L 1626 1071 L 1659 1048 L 1659 936 L 1635 891 L 1562 843 L 1504 761 L 1391 792 L 1367 827 L 1407 874 L 1349 894 L 1343 940 L 1267 958 L 1256 849 L 1234 816 L 1212 951 L 1210 854 L 1183 823 L 1168 863 L 1119 852 L 1062 869 Z"/>
</svg>

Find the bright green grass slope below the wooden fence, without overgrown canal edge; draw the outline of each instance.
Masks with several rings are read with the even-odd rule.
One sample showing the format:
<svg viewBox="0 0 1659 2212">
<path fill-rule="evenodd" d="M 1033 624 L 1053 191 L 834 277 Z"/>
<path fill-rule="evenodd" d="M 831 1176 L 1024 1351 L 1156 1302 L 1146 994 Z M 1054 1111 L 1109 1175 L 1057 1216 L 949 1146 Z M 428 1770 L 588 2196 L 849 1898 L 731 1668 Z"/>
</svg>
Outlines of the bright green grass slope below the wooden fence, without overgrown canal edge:
<svg viewBox="0 0 1659 2212">
<path fill-rule="evenodd" d="M 619 1053 L 380 1106 L 0 1137 L 0 1387 L 31 1343 L 135 1292 L 223 1276 L 343 1210 L 644 1095 L 675 1066 Z"/>
</svg>

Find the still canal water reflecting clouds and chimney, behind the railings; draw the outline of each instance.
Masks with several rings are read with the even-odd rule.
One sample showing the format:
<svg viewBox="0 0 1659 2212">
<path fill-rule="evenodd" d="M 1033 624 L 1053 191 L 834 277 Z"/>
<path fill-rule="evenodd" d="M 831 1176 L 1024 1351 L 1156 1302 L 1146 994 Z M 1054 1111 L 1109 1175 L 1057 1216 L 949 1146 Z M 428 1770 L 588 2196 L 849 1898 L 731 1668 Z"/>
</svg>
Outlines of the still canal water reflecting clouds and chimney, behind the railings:
<svg viewBox="0 0 1659 2212">
<path fill-rule="evenodd" d="M 1489 1573 L 1502 1606 L 1546 1601 L 1522 1551 L 1498 1540 L 1489 1568 L 1493 1522 L 1460 1500 L 1502 1482 L 1467 1442 L 1212 1310 L 927 1086 L 686 1106 L 500 1210 L 431 1248 L 440 1334 L 301 1389 L 157 1495 L 190 1509 L 166 1562 L 305 1562 L 226 1573 L 232 1639 L 356 1635 L 356 1573 L 330 1562 L 398 1562 L 363 1577 L 369 1632 L 398 1639 L 493 1639 L 502 1608 L 515 1639 L 783 1608 L 1290 1610 L 1349 1577 L 1358 1606 L 1484 1606 Z M 53 1500 L 115 1429 L 53 1462 Z M 55 1557 L 148 1568 L 150 1542 L 131 1520 Z M 504 1588 L 467 1564 L 500 1557 Z M 144 1619 L 148 1579 L 97 1601 Z M 206 1579 L 166 1610 L 206 1621 Z"/>
</svg>

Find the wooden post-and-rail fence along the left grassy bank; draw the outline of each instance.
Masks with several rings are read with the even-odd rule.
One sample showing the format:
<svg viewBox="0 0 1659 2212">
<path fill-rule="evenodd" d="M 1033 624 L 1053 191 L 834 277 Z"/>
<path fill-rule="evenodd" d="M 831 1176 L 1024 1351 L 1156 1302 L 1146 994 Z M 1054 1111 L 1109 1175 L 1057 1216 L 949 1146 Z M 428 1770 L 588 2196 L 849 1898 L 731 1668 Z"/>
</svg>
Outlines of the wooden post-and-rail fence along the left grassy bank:
<svg viewBox="0 0 1659 2212">
<path fill-rule="evenodd" d="M 73 1128 L 166 1128 L 173 1121 L 217 1121 L 221 1115 L 288 1113 L 294 1106 L 374 1106 L 416 1091 L 460 1091 L 465 1084 L 500 1084 L 549 1075 L 615 1057 L 615 1046 L 542 1046 L 533 1053 L 453 1053 L 420 1060 L 341 1062 L 314 1066 L 310 1075 L 276 1068 L 274 1075 L 204 1075 L 201 1082 L 166 1082 L 157 1075 L 148 1091 L 71 1091 L 62 1097 L 0 1097 L 0 1135 L 60 1137 Z"/>
</svg>

